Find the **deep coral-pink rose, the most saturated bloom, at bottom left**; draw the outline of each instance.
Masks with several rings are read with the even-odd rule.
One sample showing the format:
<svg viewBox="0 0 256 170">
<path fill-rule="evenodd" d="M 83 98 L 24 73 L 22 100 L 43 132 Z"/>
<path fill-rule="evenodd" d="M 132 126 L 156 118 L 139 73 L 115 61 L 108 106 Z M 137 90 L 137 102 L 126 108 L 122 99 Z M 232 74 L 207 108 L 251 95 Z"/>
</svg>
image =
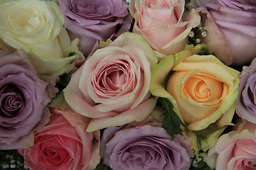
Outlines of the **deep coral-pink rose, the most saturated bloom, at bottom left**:
<svg viewBox="0 0 256 170">
<path fill-rule="evenodd" d="M 31 170 L 95 169 L 100 162 L 100 132 L 85 132 L 90 118 L 75 113 L 51 110 L 50 122 L 35 133 L 30 149 L 19 152 Z"/>
</svg>

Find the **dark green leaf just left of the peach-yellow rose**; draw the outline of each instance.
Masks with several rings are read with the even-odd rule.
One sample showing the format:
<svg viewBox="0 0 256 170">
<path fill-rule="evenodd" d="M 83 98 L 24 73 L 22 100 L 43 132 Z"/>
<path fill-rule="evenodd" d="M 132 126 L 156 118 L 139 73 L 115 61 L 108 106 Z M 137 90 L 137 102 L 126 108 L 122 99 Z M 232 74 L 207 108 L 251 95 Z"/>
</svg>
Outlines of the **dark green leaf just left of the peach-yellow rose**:
<svg viewBox="0 0 256 170">
<path fill-rule="evenodd" d="M 181 125 L 185 127 L 185 124 L 181 121 L 178 115 L 174 112 L 174 105 L 169 101 L 168 98 L 159 98 L 159 103 L 161 104 L 161 108 L 163 108 L 164 113 L 164 122 L 163 128 L 167 131 L 167 133 L 171 136 L 171 139 L 174 139 L 174 135 L 181 134 Z"/>
</svg>

